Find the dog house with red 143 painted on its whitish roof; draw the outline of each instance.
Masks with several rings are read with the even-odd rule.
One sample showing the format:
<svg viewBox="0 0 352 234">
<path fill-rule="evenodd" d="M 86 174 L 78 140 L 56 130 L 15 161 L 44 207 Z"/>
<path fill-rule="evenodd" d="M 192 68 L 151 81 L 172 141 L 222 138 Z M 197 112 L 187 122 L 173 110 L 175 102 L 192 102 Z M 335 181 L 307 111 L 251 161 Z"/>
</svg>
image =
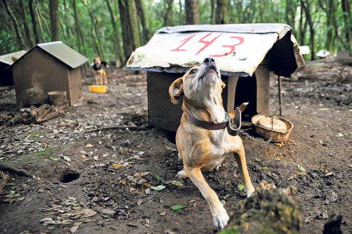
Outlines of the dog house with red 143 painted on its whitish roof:
<svg viewBox="0 0 352 234">
<path fill-rule="evenodd" d="M 222 92 L 225 110 L 248 101 L 245 117 L 269 112 L 270 71 L 290 77 L 304 66 L 292 28 L 285 24 L 162 28 L 132 53 L 124 68 L 147 71 L 150 125 L 177 130 L 182 104 L 171 103 L 168 87 L 206 57 L 215 59 L 226 84 Z"/>
</svg>

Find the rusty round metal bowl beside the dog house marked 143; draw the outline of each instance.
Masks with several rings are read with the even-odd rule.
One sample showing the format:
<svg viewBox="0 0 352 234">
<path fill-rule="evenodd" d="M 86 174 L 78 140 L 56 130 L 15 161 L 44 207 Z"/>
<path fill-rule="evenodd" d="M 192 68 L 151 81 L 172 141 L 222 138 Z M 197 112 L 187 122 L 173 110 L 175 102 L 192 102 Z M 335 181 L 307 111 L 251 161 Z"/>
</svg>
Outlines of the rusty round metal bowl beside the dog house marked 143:
<svg viewBox="0 0 352 234">
<path fill-rule="evenodd" d="M 272 114 L 257 114 L 252 117 L 252 124 L 254 125 L 255 133 L 261 136 L 264 140 L 268 141 L 271 137 L 271 129 L 264 128 L 262 126 L 257 125 L 258 121 L 262 118 L 274 118 L 277 120 L 280 120 L 285 123 L 287 130 L 284 132 L 279 132 L 273 130 L 273 138 L 272 142 L 284 142 L 289 140 L 291 130 L 293 129 L 293 124 L 289 121 L 286 120 L 285 118 L 277 115 L 272 115 Z"/>
</svg>

